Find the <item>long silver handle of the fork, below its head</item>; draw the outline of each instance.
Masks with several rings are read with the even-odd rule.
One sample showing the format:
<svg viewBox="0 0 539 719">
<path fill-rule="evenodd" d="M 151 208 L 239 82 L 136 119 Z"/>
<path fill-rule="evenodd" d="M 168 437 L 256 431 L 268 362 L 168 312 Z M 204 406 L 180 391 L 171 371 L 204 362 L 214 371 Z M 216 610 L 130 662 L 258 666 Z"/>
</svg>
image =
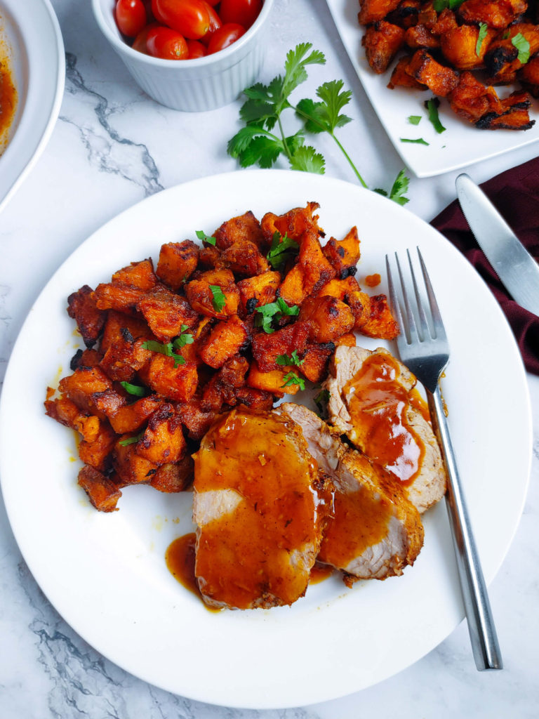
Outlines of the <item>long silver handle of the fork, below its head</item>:
<svg viewBox="0 0 539 719">
<path fill-rule="evenodd" d="M 441 444 L 448 474 L 446 507 L 475 664 L 479 672 L 485 669 L 503 669 L 487 586 L 484 582 L 474 534 L 471 531 L 440 386 L 438 385 L 433 393 L 428 392 L 427 394 L 430 416 L 433 418 L 434 429 Z"/>
</svg>

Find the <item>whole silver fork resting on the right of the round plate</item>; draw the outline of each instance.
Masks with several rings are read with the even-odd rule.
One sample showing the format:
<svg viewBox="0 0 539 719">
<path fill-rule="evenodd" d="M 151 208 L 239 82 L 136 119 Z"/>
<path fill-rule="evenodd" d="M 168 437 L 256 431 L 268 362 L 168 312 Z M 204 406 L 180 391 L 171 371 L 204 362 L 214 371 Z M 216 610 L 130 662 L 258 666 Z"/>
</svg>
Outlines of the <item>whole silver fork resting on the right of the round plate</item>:
<svg viewBox="0 0 539 719">
<path fill-rule="evenodd" d="M 446 464 L 448 475 L 446 507 L 449 524 L 451 525 L 456 564 L 459 569 L 462 597 L 475 664 L 479 671 L 502 669 L 502 655 L 499 651 L 487 587 L 484 583 L 479 554 L 471 531 L 471 523 L 466 509 L 459 470 L 456 465 L 440 393 L 439 380 L 449 361 L 449 344 L 446 331 L 443 328 L 438 303 L 419 248 L 418 256 L 428 299 L 428 309 L 430 310 L 430 326 L 427 311 L 425 311 L 425 305 L 420 295 L 418 280 L 416 280 L 413 270 L 410 250 L 407 250 L 407 258 L 413 285 L 412 298 L 410 298 L 410 293 L 407 292 L 407 282 L 395 252 L 395 265 L 402 293 L 402 305 L 397 296 L 396 282 L 393 280 L 390 267 L 390 258 L 388 255 L 385 258 L 390 303 L 401 330 L 400 336 L 397 337 L 397 347 L 402 362 L 418 377 L 426 390 L 430 417 L 436 436 L 440 441 L 443 459 Z"/>
</svg>

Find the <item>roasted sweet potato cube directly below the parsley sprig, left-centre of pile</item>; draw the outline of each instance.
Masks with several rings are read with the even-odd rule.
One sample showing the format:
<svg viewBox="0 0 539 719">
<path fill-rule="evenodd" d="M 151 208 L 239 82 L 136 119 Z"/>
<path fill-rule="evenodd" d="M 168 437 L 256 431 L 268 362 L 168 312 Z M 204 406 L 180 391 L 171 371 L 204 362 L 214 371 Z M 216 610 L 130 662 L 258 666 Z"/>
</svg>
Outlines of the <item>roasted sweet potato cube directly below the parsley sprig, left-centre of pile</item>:
<svg viewBox="0 0 539 719">
<path fill-rule="evenodd" d="M 187 402 L 193 397 L 198 384 L 198 373 L 193 362 L 175 367 L 173 357 L 152 353 L 152 359 L 139 370 L 142 382 L 158 395 L 175 402 Z"/>
</svg>

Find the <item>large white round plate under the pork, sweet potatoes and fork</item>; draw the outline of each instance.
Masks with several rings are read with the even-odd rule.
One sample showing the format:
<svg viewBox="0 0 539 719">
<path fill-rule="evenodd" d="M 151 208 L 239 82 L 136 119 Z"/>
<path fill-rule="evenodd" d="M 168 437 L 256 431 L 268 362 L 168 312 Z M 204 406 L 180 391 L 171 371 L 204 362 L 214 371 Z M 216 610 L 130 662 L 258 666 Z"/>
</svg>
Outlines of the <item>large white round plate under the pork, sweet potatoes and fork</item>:
<svg viewBox="0 0 539 719">
<path fill-rule="evenodd" d="M 406 209 L 341 180 L 247 170 L 163 191 L 103 226 L 52 277 L 14 347 L 0 407 L 4 500 L 29 569 L 75 631 L 137 677 L 214 704 L 292 707 L 369 687 L 433 649 L 464 615 L 443 502 L 425 516 L 425 546 L 402 577 L 349 590 L 333 576 L 290 608 L 211 613 L 165 567 L 167 545 L 191 531 L 192 495 L 127 487 L 119 512 L 96 512 L 76 484 L 73 433 L 43 411 L 45 388 L 70 372 L 80 346 L 65 312 L 70 292 L 157 260 L 163 242 L 307 201 L 321 203 L 328 237 L 358 226 L 360 284 L 383 272 L 386 252 L 423 252 L 451 342 L 443 396 L 487 582 L 528 484 L 530 406 L 510 328 L 471 265 Z"/>
</svg>

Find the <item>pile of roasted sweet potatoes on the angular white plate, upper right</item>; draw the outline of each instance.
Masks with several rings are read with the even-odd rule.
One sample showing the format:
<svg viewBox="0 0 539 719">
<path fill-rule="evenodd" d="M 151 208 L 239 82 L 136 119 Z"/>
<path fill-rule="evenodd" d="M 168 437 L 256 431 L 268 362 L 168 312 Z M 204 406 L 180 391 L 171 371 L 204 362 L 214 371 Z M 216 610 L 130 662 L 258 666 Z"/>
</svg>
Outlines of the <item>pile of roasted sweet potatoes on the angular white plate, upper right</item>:
<svg viewBox="0 0 539 719">
<path fill-rule="evenodd" d="M 390 88 L 430 90 L 480 129 L 532 127 L 539 97 L 536 0 L 359 0 L 375 73 L 399 56 Z M 518 88 L 505 98 L 497 85 Z"/>
</svg>

